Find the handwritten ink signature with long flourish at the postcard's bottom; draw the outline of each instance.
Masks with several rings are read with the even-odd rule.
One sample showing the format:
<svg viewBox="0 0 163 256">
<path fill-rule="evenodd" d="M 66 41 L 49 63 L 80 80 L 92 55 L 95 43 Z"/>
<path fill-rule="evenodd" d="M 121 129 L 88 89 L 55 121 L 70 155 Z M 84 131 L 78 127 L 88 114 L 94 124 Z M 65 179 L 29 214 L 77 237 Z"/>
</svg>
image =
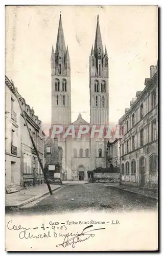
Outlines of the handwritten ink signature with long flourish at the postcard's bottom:
<svg viewBox="0 0 163 256">
<path fill-rule="evenodd" d="M 75 244 L 84 242 L 84 241 L 88 240 L 89 238 L 95 237 L 95 234 L 90 233 L 90 232 L 95 231 L 95 230 L 105 229 L 105 228 L 96 228 L 96 229 L 87 230 L 90 227 L 93 227 L 93 225 L 85 227 L 81 233 L 75 235 L 75 237 L 73 237 L 73 238 L 68 238 L 69 236 L 72 236 L 72 234 L 70 234 L 70 235 L 66 234 L 64 237 L 63 243 L 57 244 L 56 247 L 63 246 L 63 248 L 64 248 L 68 245 L 71 245 L 73 248 L 75 248 Z"/>
</svg>

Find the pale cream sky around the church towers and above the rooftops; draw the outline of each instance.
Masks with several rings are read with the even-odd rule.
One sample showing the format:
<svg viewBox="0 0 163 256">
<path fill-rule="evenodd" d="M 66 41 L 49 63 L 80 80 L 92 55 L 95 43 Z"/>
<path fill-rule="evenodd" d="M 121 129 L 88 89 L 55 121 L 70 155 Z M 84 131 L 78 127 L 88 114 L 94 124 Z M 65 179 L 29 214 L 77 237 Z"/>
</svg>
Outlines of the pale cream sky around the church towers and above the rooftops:
<svg viewBox="0 0 163 256">
<path fill-rule="evenodd" d="M 6 75 L 51 124 L 51 51 L 61 12 L 71 61 L 72 122 L 89 122 L 89 56 L 97 15 L 109 58 L 109 122 L 118 123 L 157 62 L 157 6 L 7 6 Z"/>
</svg>

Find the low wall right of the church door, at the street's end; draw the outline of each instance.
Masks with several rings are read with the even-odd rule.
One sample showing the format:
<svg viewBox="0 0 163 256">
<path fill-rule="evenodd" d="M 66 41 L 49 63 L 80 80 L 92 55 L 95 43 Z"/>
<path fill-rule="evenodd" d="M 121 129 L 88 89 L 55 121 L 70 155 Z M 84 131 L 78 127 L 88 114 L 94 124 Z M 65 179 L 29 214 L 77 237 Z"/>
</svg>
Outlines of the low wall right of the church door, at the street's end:
<svg viewBox="0 0 163 256">
<path fill-rule="evenodd" d="M 88 182 L 90 182 L 88 180 Z M 119 173 L 94 173 L 94 183 L 118 183 L 120 182 Z"/>
</svg>

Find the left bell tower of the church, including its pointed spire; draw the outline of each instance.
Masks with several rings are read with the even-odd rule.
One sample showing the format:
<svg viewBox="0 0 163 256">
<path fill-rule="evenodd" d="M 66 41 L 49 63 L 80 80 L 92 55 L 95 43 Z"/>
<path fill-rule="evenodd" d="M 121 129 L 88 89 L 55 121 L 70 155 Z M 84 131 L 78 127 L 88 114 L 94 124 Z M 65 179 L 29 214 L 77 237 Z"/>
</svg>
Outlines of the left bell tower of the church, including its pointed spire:
<svg viewBox="0 0 163 256">
<path fill-rule="evenodd" d="M 56 50 L 52 46 L 52 120 L 51 124 L 71 123 L 71 69 L 68 47 L 65 47 L 61 14 Z"/>
</svg>

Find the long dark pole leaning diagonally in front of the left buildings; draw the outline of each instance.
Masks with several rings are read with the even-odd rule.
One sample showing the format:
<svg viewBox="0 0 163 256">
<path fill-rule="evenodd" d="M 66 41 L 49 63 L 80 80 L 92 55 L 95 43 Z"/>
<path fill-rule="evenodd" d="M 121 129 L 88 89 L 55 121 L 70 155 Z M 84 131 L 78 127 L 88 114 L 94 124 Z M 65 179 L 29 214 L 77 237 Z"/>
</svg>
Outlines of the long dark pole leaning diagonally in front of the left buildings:
<svg viewBox="0 0 163 256">
<path fill-rule="evenodd" d="M 11 80 L 11 81 L 12 81 L 12 80 Z M 43 173 L 43 175 L 44 175 L 44 179 L 45 179 L 46 184 L 47 184 L 47 186 L 48 186 L 48 188 L 49 188 L 50 194 L 53 195 L 52 188 L 51 188 L 51 186 L 50 186 L 50 183 L 49 183 L 48 178 L 47 178 L 47 176 L 46 176 L 45 170 L 44 170 L 44 168 L 43 168 L 41 159 L 40 159 L 40 157 L 39 157 L 39 153 L 38 153 L 38 151 L 37 151 L 37 147 L 35 146 L 35 142 L 34 142 L 32 136 L 31 136 L 30 129 L 29 129 L 29 126 L 28 126 L 28 123 L 27 123 L 27 119 L 26 119 L 26 116 L 25 116 L 25 114 L 24 114 L 24 110 L 23 110 L 22 107 L 21 107 L 20 99 L 19 99 L 19 96 L 18 96 L 18 93 L 17 93 L 17 90 L 16 90 L 16 88 L 15 88 L 15 86 L 14 86 L 13 81 L 12 81 L 12 85 L 13 85 L 13 89 L 14 89 L 14 92 L 15 92 L 15 96 L 16 96 L 16 98 L 17 98 L 17 100 L 18 100 L 18 103 L 19 103 L 19 106 L 20 106 L 21 114 L 22 114 L 22 116 L 23 116 L 23 118 L 24 118 L 24 120 L 25 120 L 25 123 L 26 123 L 26 126 L 27 126 L 27 130 L 28 130 L 28 133 L 29 133 L 29 135 L 30 135 L 30 139 L 31 139 L 31 141 L 32 141 L 32 144 L 33 144 L 35 153 L 36 153 L 36 155 L 37 155 L 39 164 L 40 164 L 40 166 L 41 166 L 41 170 L 42 170 L 42 173 Z"/>
</svg>

